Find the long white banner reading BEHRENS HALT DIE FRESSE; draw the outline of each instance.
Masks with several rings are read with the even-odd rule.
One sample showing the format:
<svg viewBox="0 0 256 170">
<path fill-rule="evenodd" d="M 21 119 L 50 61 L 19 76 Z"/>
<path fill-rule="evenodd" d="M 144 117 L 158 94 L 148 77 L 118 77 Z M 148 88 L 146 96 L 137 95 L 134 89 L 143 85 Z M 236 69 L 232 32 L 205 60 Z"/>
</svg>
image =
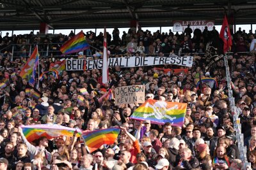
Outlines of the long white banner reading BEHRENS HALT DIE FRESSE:
<svg viewBox="0 0 256 170">
<path fill-rule="evenodd" d="M 185 57 L 119 57 L 109 58 L 109 67 L 140 67 L 140 66 L 154 66 L 162 64 L 174 64 L 179 66 L 191 67 L 193 64 L 192 56 Z M 84 60 L 82 59 L 67 59 L 67 71 L 83 70 Z M 86 69 L 102 69 L 102 59 L 86 60 Z"/>
</svg>

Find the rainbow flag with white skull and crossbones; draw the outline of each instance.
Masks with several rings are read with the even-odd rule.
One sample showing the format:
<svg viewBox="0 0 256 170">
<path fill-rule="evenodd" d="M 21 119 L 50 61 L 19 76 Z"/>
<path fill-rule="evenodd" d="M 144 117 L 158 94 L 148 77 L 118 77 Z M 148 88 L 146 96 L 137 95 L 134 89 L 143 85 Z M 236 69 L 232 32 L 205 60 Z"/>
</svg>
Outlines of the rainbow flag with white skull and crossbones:
<svg viewBox="0 0 256 170">
<path fill-rule="evenodd" d="M 173 126 L 182 126 L 187 109 L 187 103 L 156 101 L 148 99 L 137 108 L 131 118 L 135 120 L 150 120 L 152 124 L 163 125 L 170 122 Z"/>
</svg>

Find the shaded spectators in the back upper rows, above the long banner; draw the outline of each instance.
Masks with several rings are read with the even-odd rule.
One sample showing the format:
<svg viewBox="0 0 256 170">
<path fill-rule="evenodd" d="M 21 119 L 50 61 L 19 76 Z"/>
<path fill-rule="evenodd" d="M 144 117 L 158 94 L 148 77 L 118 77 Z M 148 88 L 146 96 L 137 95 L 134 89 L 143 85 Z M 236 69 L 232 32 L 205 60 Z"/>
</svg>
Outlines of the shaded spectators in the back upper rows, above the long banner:
<svg viewBox="0 0 256 170">
<path fill-rule="evenodd" d="M 191 37 L 193 33 L 193 37 Z M 176 32 L 174 34 L 170 29 L 169 32 L 161 32 L 158 30 L 156 32 L 143 31 L 139 27 L 138 31 L 136 29 L 129 29 L 128 32 L 120 32 L 117 27 L 113 30 L 112 34 L 107 32 L 107 41 L 109 45 L 109 51 L 111 55 L 166 55 L 170 53 L 204 53 L 207 43 L 211 41 L 212 37 L 218 35 L 219 32 L 213 27 L 212 31 L 208 31 L 205 27 L 204 31 L 200 29 L 192 29 L 188 27 L 184 30 L 182 34 Z M 1 53 L 8 54 L 14 50 L 13 55 L 19 55 L 20 57 L 28 56 L 30 45 L 32 49 L 35 45 L 38 48 L 42 56 L 58 56 L 61 55 L 59 52 L 61 45 L 72 36 L 74 32 L 71 31 L 68 35 L 58 34 L 58 35 L 46 35 L 42 36 L 38 32 L 37 34 L 18 35 L 9 36 L 7 32 L 5 36 L 0 36 L 0 49 Z M 94 53 L 102 50 L 103 46 L 103 33 L 100 32 L 96 36 L 95 32 L 88 31 L 84 32 L 86 36 L 86 41 L 92 46 L 90 50 L 86 52 L 86 55 L 93 55 Z M 252 52 L 255 51 L 255 34 L 250 30 L 246 33 L 244 30 L 239 31 L 232 35 L 232 50 L 231 52 Z M 15 45 L 13 45 L 15 44 Z M 12 49 L 12 45 L 14 49 Z M 47 53 L 48 52 L 48 53 Z"/>
</svg>

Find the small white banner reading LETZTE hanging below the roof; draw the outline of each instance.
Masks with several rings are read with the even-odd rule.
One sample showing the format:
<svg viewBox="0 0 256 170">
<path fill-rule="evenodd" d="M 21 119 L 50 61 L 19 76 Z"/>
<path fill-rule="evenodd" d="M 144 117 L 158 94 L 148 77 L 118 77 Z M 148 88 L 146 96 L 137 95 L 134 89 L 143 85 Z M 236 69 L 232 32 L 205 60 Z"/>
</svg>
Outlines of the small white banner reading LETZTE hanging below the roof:
<svg viewBox="0 0 256 170">
<path fill-rule="evenodd" d="M 184 32 L 186 27 L 190 25 L 192 31 L 200 29 L 204 31 L 204 27 L 208 27 L 208 31 L 212 31 L 214 26 L 214 20 L 174 20 L 173 21 L 173 32 Z"/>
</svg>

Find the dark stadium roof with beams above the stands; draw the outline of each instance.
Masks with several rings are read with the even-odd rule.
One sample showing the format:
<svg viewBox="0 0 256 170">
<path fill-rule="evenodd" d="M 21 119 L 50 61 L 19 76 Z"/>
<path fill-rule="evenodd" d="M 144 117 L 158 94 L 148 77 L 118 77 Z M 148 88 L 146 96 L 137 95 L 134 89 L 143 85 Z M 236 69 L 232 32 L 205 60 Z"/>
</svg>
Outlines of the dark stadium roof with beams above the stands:
<svg viewBox="0 0 256 170">
<path fill-rule="evenodd" d="M 255 0 L 0 0 L 1 30 L 170 26 L 173 20 L 215 20 L 230 12 L 236 24 L 255 23 Z"/>
</svg>

